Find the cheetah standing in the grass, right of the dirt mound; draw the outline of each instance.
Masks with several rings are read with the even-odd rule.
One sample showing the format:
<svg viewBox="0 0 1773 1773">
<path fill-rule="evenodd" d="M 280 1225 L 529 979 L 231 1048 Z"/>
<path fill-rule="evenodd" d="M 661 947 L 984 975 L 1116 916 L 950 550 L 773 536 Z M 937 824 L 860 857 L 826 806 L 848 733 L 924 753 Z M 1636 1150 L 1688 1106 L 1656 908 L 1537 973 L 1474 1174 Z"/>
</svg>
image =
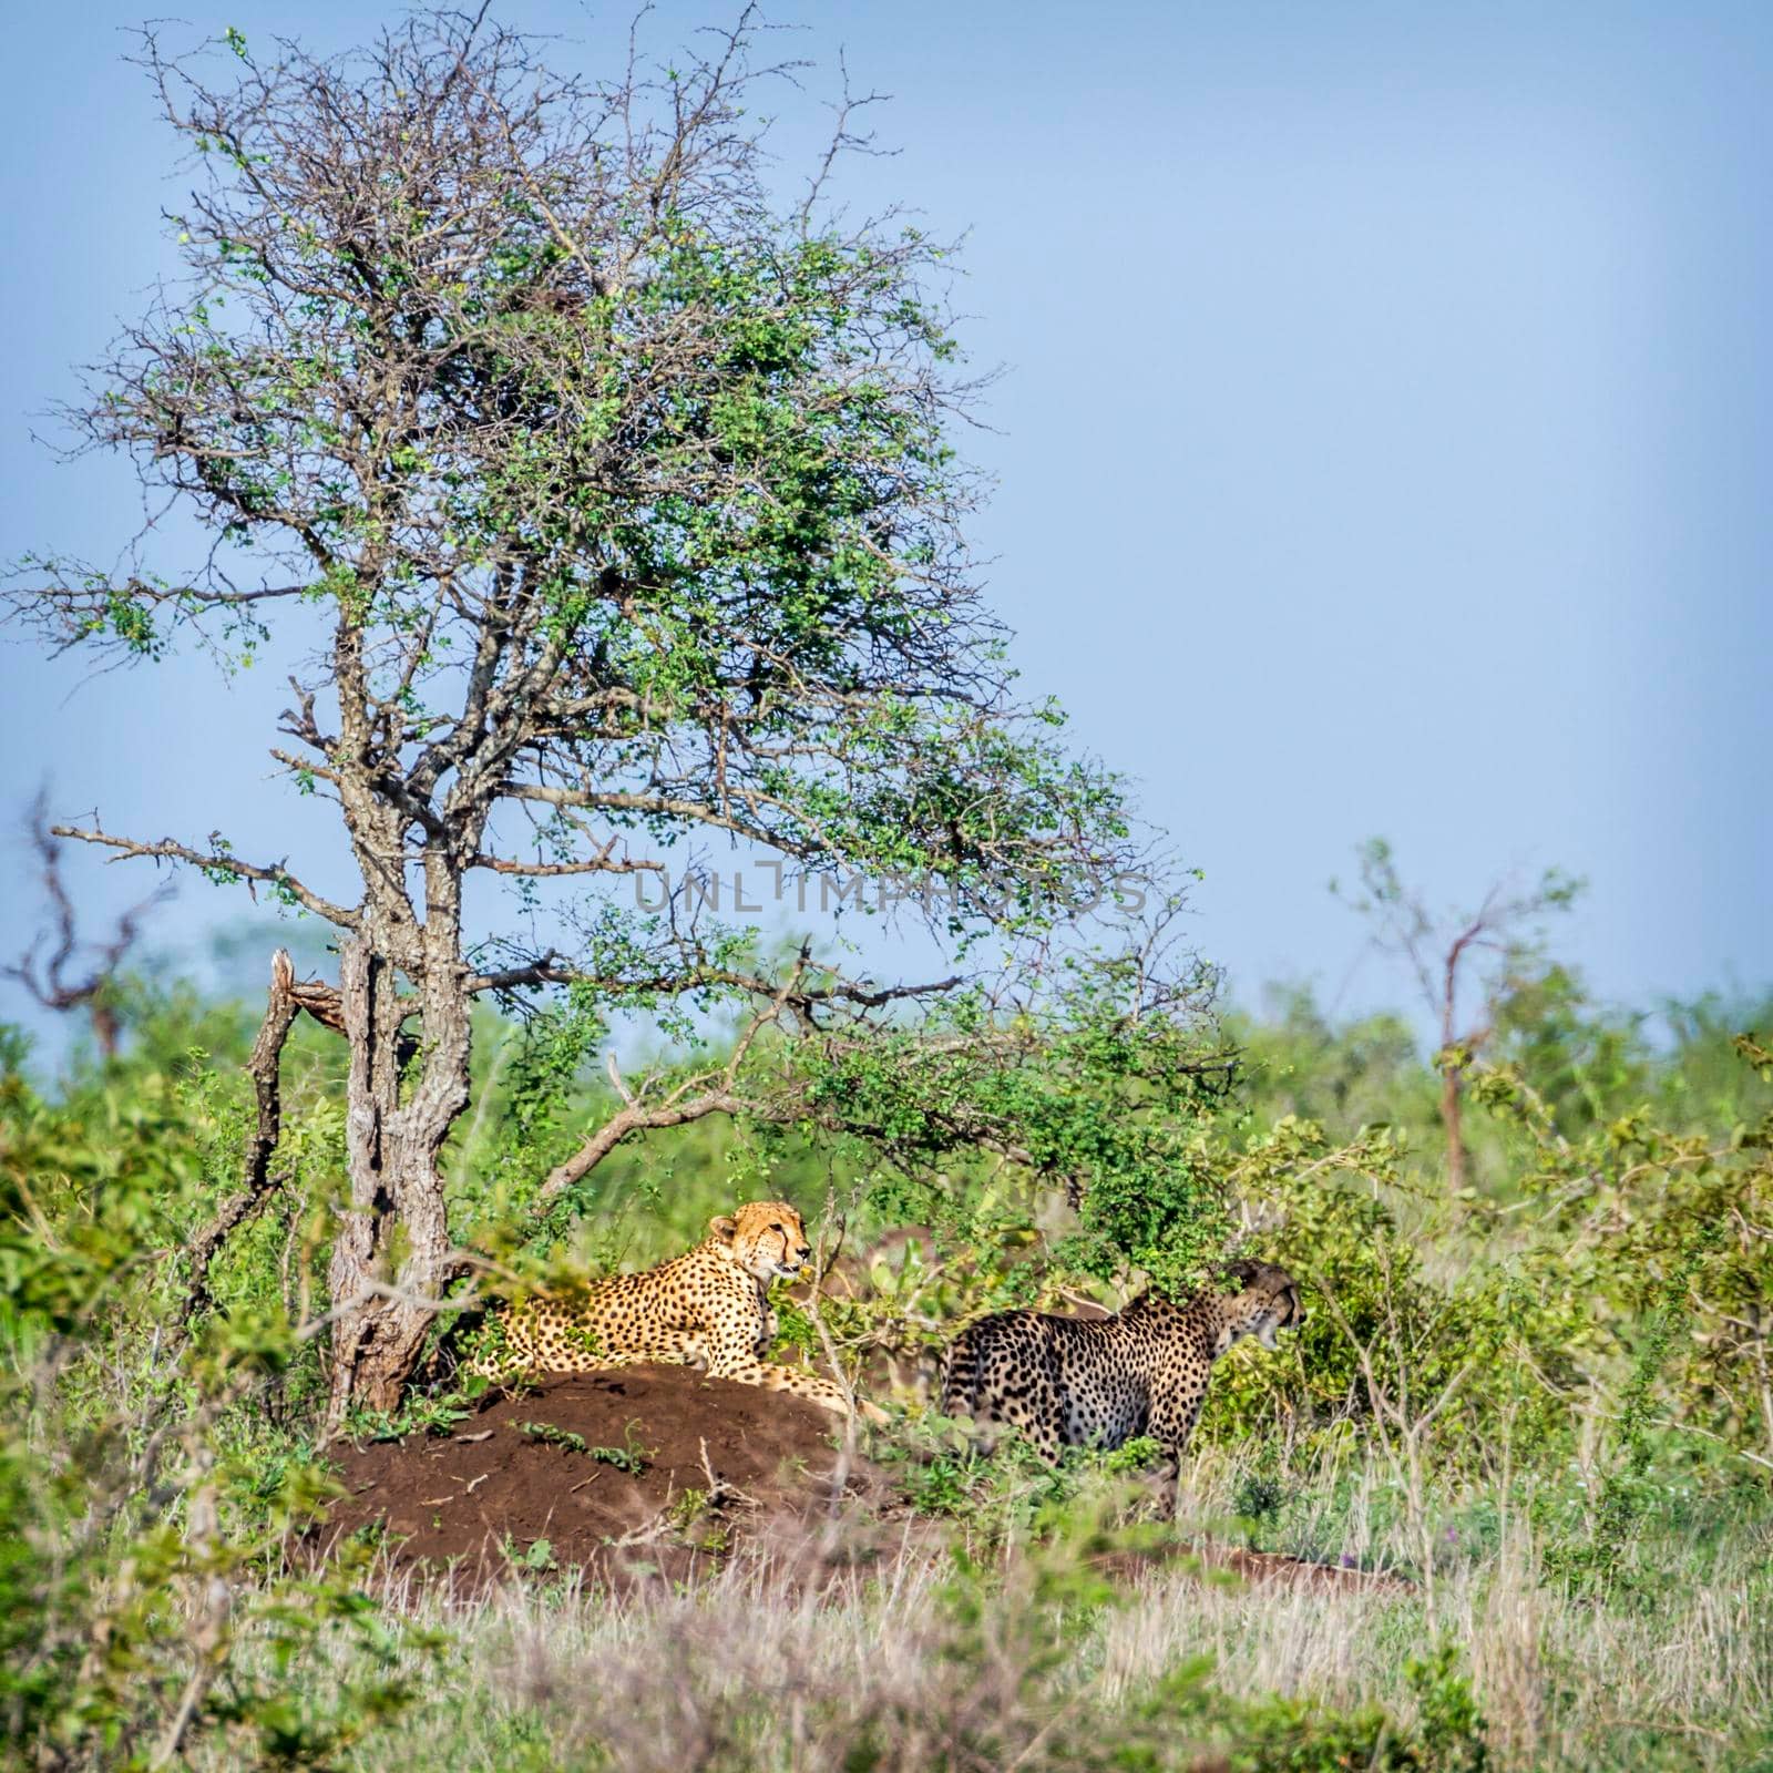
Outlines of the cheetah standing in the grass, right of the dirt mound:
<svg viewBox="0 0 1773 1773">
<path fill-rule="evenodd" d="M 1060 1447 L 1149 1434 L 1174 1461 L 1200 1417 L 1213 1362 L 1239 1337 L 1273 1347 L 1278 1330 L 1305 1321 L 1285 1269 L 1232 1262 L 1225 1275 L 1234 1291 L 1184 1303 L 1145 1293 L 1113 1317 L 982 1317 L 949 1349 L 943 1415 L 1019 1429 L 1044 1459 Z"/>
</svg>

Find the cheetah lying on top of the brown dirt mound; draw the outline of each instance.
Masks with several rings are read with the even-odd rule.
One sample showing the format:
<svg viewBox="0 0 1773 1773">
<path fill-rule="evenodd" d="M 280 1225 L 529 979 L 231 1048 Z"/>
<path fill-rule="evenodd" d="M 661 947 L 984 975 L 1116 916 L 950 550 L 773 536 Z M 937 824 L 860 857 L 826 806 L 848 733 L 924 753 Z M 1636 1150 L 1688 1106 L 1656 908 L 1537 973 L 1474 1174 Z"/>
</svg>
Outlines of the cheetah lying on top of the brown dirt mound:
<svg viewBox="0 0 1773 1773">
<path fill-rule="evenodd" d="M 808 1255 L 807 1230 L 791 1206 L 746 1202 L 709 1220 L 707 1236 L 693 1250 L 645 1273 L 612 1275 L 571 1293 L 496 1307 L 495 1349 L 470 1362 L 468 1371 L 498 1379 L 665 1362 L 704 1367 L 713 1379 L 793 1392 L 847 1415 L 849 1404 L 832 1379 L 762 1360 L 777 1333 L 769 1282 L 798 1275 Z M 863 1411 L 878 1415 L 871 1406 Z"/>
</svg>

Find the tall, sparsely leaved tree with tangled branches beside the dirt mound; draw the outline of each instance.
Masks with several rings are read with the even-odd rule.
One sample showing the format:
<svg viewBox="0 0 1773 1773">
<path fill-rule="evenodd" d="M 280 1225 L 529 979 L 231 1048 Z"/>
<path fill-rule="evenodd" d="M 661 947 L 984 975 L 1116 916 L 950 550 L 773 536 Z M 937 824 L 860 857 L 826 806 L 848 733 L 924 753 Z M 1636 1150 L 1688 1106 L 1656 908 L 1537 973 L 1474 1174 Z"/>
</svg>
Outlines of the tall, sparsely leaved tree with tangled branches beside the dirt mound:
<svg viewBox="0 0 1773 1773">
<path fill-rule="evenodd" d="M 746 105 L 782 69 L 752 64 L 748 12 L 711 53 L 656 73 L 629 55 L 605 82 L 482 20 L 418 16 L 337 59 L 145 39 L 199 167 L 174 218 L 188 278 L 71 417 L 213 546 L 177 574 L 35 555 L 11 592 L 53 642 L 142 660 L 314 640 L 273 757 L 337 807 L 353 901 L 223 837 L 60 835 L 268 888 L 339 933 L 335 1413 L 392 1404 L 461 1271 L 438 1160 L 477 993 L 723 993 L 754 1027 L 847 1021 L 853 1062 L 881 1018 L 902 1043 L 906 1007 L 965 989 L 805 954 L 771 970 L 693 922 L 622 915 L 621 876 L 720 833 L 812 876 L 940 876 L 922 911 L 966 938 L 1051 927 L 1131 858 L 1117 787 L 1018 702 L 980 603 L 943 255 L 826 206 L 851 108 L 778 202 Z M 605 897 L 583 940 L 525 947 L 477 938 L 477 874 Z M 684 1119 L 679 1097 L 629 1094 L 578 1174 Z M 691 1106 L 743 1110 L 738 1073 Z"/>
</svg>

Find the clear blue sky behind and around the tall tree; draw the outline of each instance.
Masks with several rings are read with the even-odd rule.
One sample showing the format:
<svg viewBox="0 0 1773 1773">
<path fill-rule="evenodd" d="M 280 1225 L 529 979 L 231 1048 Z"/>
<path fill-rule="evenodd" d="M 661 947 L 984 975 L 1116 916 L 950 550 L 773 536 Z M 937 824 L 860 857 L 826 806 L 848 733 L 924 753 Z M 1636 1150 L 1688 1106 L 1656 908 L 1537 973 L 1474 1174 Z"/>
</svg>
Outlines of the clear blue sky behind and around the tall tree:
<svg viewBox="0 0 1773 1773">
<path fill-rule="evenodd" d="M 626 27 L 495 9 L 582 67 Z M 140 521 L 124 465 L 30 436 L 165 261 L 174 151 L 119 60 L 138 16 L 83 0 L 9 27 L 5 557 L 106 558 Z M 369 16 L 186 7 L 197 32 L 316 46 Z M 720 16 L 665 0 L 647 28 L 663 53 Z M 1324 890 L 1374 833 L 1445 902 L 1511 867 L 1589 876 L 1564 947 L 1610 998 L 1773 980 L 1773 7 L 771 16 L 894 94 L 899 152 L 853 168 L 856 202 L 970 230 L 965 339 L 1007 369 L 965 440 L 1000 482 L 975 530 L 993 599 L 1030 691 L 1206 871 L 1195 934 L 1236 993 L 1402 995 L 1376 963 L 1349 982 L 1362 936 Z M 784 94 L 801 119 L 808 78 Z M 0 819 L 50 777 L 59 814 L 138 837 L 326 844 L 269 775 L 271 667 L 94 677 L 11 640 Z M 73 878 L 98 910 L 145 867 Z M 9 950 L 28 886 L 9 855 Z M 156 931 L 195 950 L 232 908 L 193 881 Z"/>
</svg>

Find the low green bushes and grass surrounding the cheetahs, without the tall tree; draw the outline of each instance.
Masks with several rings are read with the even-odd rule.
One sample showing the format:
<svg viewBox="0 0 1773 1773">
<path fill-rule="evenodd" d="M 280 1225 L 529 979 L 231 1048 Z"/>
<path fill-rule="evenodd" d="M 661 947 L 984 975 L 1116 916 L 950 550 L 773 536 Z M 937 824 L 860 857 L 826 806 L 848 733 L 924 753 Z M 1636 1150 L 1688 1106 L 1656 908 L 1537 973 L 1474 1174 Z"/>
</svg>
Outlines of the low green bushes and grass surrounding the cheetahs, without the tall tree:
<svg viewBox="0 0 1773 1773">
<path fill-rule="evenodd" d="M 512 1551 L 475 1599 L 374 1543 L 300 1557 L 332 1488 L 344 1043 L 293 1043 L 289 1181 L 193 1324 L 183 1252 L 238 1186 L 255 1007 L 145 977 L 117 1005 L 119 1055 L 87 1048 L 53 1083 L 23 1037 L 5 1048 L 5 1704 L 27 1764 L 1764 1764 L 1773 1060 L 1732 1032 L 1764 1005 L 1621 1016 L 1543 957 L 1505 977 L 1456 1197 L 1410 1023 L 1335 1021 L 1308 991 L 1229 1012 L 1241 1085 L 1199 1117 L 1191 1188 L 1305 1278 L 1312 1316 L 1220 1365 L 1174 1498 L 1136 1447 L 1051 1472 L 929 1411 L 970 1314 L 1140 1278 L 1089 1261 L 1064 1190 L 989 1154 L 938 1186 L 730 1119 L 624 1145 L 504 1259 L 638 1262 L 738 1199 L 824 1206 L 860 1284 L 817 1326 L 784 1300 L 780 1358 L 824 1360 L 823 1330 L 890 1408 L 863 1450 L 910 1527 L 851 1557 L 863 1523 L 816 1512 L 807 1543 L 746 1541 L 676 1592 Z M 488 1018 L 479 1050 L 447 1152 L 470 1238 L 612 1108 L 546 1018 Z M 447 1431 L 463 1392 L 441 1362 L 401 1425 Z M 1238 1585 L 1156 1557 L 1207 1544 L 1374 1580 Z"/>
</svg>

